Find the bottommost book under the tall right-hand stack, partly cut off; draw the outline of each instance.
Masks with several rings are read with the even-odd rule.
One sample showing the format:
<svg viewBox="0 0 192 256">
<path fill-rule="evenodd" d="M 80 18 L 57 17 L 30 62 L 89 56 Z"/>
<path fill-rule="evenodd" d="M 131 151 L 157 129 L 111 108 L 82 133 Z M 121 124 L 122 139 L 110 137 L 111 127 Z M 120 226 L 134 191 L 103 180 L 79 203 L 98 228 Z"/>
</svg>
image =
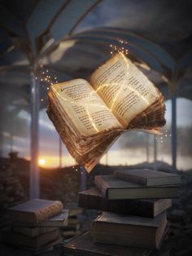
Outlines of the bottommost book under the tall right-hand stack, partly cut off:
<svg viewBox="0 0 192 256">
<path fill-rule="evenodd" d="M 90 236 L 90 232 L 85 232 L 76 236 L 64 245 L 65 256 L 149 256 L 151 249 L 131 248 L 122 245 L 95 244 Z"/>
</svg>

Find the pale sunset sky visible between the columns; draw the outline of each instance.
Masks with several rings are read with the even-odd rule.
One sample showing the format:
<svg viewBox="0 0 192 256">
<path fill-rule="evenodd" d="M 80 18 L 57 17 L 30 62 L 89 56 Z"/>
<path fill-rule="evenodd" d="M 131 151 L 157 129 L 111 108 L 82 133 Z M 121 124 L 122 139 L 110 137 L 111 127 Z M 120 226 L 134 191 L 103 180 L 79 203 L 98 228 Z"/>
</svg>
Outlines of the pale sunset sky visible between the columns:
<svg viewBox="0 0 192 256">
<path fill-rule="evenodd" d="M 164 127 L 166 130 L 171 123 L 171 103 L 170 100 L 166 101 L 166 119 L 167 125 Z M 192 103 L 188 99 L 177 99 L 177 126 L 192 126 Z M 24 118 L 27 121 L 27 136 L 24 137 L 14 137 L 13 138 L 13 150 L 18 151 L 20 157 L 25 157 L 29 159 L 29 125 L 30 118 L 28 113 L 21 112 L 20 118 Z M 129 132 L 130 133 L 130 132 Z M 136 131 L 132 131 L 130 136 Z M 10 152 L 10 135 L 4 133 L 4 147 L 3 155 L 7 156 L 7 153 Z M 122 135 L 124 136 L 124 135 Z M 151 142 L 153 142 L 153 135 L 151 136 Z M 168 139 L 165 138 L 164 139 Z M 107 157 L 104 156 L 101 162 L 103 164 L 108 163 L 109 165 L 133 165 L 142 161 L 146 161 L 146 150 L 145 148 L 140 148 L 137 145 L 136 148 L 122 148 L 121 143 L 124 140 L 124 137 L 121 137 L 109 150 Z M 171 139 L 169 138 L 170 143 Z M 159 140 L 158 140 L 158 143 Z M 163 142 L 164 143 L 164 142 Z M 63 166 L 72 166 L 75 164 L 72 157 L 69 155 L 67 149 L 63 145 Z M 192 166 L 191 157 L 180 157 L 178 156 L 179 161 L 177 161 L 177 166 L 180 169 L 188 169 Z M 41 166 L 45 167 L 57 167 L 59 166 L 59 135 L 57 134 L 55 127 L 50 122 L 49 118 L 46 115 L 46 109 L 41 110 L 40 113 L 40 152 L 39 159 L 41 161 Z M 158 160 L 164 160 L 171 164 L 170 155 L 164 155 L 163 152 L 159 152 Z M 153 161 L 153 151 L 151 148 L 150 151 L 150 161 Z"/>
</svg>

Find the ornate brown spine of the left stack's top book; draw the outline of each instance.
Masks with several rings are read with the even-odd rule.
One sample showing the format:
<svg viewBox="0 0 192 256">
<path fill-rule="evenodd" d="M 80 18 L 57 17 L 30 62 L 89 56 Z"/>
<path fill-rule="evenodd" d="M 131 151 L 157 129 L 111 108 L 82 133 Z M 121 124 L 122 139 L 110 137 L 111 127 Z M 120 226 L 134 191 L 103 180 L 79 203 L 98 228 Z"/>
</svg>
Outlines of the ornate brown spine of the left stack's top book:
<svg viewBox="0 0 192 256">
<path fill-rule="evenodd" d="M 55 201 L 53 205 L 49 205 L 41 210 L 37 210 L 36 215 L 36 223 L 41 223 L 42 221 L 50 218 L 56 214 L 61 213 L 63 210 L 63 204 L 61 201 Z"/>
</svg>

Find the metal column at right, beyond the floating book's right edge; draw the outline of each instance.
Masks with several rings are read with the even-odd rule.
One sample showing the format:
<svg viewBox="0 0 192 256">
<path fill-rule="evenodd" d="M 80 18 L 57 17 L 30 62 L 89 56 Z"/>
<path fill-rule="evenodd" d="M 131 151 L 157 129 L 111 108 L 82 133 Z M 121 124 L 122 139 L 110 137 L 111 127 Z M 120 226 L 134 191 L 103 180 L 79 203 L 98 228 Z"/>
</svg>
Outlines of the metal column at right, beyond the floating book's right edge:
<svg viewBox="0 0 192 256">
<path fill-rule="evenodd" d="M 172 172 L 177 172 L 177 98 L 172 94 Z"/>
</svg>

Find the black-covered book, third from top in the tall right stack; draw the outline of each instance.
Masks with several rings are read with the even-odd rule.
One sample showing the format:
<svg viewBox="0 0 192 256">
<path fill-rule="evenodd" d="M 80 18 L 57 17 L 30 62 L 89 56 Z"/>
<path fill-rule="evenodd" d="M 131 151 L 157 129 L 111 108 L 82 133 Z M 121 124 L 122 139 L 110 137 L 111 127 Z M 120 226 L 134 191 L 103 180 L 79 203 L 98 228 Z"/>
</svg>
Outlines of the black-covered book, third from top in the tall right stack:
<svg viewBox="0 0 192 256">
<path fill-rule="evenodd" d="M 111 211 L 154 218 L 172 205 L 171 199 L 108 200 L 97 188 L 79 192 L 79 206 L 82 208 Z"/>
</svg>

